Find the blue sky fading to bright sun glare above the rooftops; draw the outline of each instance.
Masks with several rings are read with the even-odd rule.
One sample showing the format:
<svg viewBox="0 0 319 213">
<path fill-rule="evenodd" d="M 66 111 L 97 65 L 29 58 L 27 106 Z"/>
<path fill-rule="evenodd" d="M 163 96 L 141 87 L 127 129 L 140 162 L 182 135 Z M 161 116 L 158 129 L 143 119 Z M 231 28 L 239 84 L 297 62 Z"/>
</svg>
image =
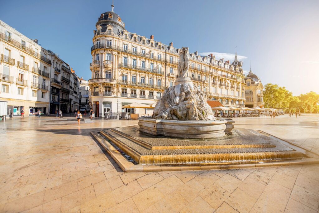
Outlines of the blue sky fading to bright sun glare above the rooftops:
<svg viewBox="0 0 319 213">
<path fill-rule="evenodd" d="M 91 77 L 93 30 L 104 1 L 4 1 L 0 19 L 59 54 L 78 76 Z M 18 6 L 19 5 L 19 6 Z M 130 32 L 190 52 L 233 58 L 263 84 L 294 95 L 319 93 L 319 1 L 115 0 L 114 11 Z"/>
</svg>

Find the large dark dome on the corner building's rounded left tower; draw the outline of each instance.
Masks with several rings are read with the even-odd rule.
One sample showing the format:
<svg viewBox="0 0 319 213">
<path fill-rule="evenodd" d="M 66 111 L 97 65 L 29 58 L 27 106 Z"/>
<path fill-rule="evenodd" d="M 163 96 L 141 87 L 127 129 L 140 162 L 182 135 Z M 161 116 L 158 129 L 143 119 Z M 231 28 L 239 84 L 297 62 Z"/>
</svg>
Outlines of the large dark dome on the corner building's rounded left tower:
<svg viewBox="0 0 319 213">
<path fill-rule="evenodd" d="M 114 11 L 108 11 L 105 13 L 102 13 L 100 15 L 100 18 L 98 19 L 98 22 L 96 22 L 95 26 L 100 25 L 102 27 L 102 32 L 106 31 L 106 26 L 110 24 L 113 27 L 113 32 L 116 32 L 117 29 L 119 30 L 125 30 L 124 28 L 124 22 L 120 18 L 118 14 L 116 14 Z"/>
</svg>

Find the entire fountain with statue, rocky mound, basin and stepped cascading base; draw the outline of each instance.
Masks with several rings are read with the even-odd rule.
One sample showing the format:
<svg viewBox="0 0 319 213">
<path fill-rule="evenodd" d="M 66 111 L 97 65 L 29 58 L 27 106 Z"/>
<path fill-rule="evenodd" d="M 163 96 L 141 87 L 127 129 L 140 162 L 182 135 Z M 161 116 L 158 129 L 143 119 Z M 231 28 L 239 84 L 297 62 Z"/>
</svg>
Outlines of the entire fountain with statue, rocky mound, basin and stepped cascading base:
<svg viewBox="0 0 319 213">
<path fill-rule="evenodd" d="M 92 132 L 123 171 L 172 171 L 319 163 L 318 156 L 262 131 L 217 120 L 206 95 L 187 76 L 180 49 L 178 78 L 138 125 Z"/>
</svg>

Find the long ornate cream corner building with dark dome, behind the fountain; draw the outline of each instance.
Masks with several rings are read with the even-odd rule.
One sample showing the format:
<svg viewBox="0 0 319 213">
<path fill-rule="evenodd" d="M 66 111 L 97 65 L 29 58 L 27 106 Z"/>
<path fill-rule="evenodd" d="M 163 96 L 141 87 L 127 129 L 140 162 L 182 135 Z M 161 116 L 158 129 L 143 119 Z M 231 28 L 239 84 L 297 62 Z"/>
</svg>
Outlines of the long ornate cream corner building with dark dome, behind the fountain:
<svg viewBox="0 0 319 213">
<path fill-rule="evenodd" d="M 174 86 L 177 77 L 178 52 L 169 45 L 130 33 L 113 11 L 102 13 L 93 31 L 92 63 L 89 80 L 90 103 L 95 116 L 105 112 L 130 112 L 152 115 L 150 109 L 122 108 L 129 103 L 152 104 L 167 87 Z M 185 45 L 187 46 L 187 45 Z M 225 106 L 244 106 L 244 75 L 242 62 L 217 60 L 212 54 L 190 54 L 188 76 L 194 86 L 208 99 L 219 100 Z"/>
</svg>

